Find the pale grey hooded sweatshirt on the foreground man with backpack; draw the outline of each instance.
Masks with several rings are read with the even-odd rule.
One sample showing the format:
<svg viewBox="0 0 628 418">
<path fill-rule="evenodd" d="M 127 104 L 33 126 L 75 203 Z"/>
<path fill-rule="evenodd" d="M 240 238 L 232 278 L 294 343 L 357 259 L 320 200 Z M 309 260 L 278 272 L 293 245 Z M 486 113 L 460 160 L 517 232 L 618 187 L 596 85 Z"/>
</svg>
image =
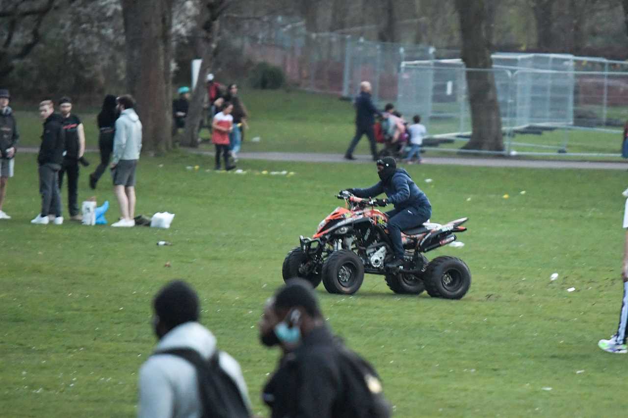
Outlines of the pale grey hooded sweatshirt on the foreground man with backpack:
<svg viewBox="0 0 628 418">
<path fill-rule="evenodd" d="M 216 338 L 197 322 L 176 326 L 157 344 L 155 351 L 192 348 L 209 359 L 216 350 Z M 236 383 L 242 399 L 251 409 L 240 365 L 220 351 L 219 365 Z M 139 418 L 199 418 L 202 404 L 198 396 L 195 368 L 187 360 L 171 355 L 152 355 L 139 369 Z"/>
</svg>

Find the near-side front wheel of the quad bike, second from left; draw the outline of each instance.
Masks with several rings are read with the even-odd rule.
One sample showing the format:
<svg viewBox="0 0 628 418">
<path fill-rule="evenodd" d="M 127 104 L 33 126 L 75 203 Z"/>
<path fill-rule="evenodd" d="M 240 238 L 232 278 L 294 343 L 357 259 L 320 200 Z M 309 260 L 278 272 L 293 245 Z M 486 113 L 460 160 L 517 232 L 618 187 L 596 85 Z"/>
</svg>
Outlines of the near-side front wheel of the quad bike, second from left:
<svg viewBox="0 0 628 418">
<path fill-rule="evenodd" d="M 364 264 L 354 252 L 332 252 L 323 264 L 323 286 L 330 293 L 354 294 L 364 281 Z"/>
</svg>

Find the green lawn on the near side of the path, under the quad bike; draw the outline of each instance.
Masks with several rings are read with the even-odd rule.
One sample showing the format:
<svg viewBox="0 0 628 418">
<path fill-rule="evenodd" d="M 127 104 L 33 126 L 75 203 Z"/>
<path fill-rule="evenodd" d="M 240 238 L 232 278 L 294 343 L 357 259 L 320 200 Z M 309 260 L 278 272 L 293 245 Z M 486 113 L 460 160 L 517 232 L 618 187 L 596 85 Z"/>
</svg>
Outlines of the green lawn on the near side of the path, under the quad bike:
<svg viewBox="0 0 628 418">
<path fill-rule="evenodd" d="M 282 282 L 283 257 L 338 205 L 337 190 L 376 180 L 366 164 L 242 161 L 247 174 L 214 173 L 205 171 L 213 168 L 207 157 L 173 153 L 143 158 L 138 171 L 137 212 L 176 213 L 170 230 L 35 226 L 34 156 L 17 158 L 4 206 L 13 219 L 0 222 L 6 417 L 133 416 L 138 368 L 155 342 L 151 297 L 173 278 L 198 289 L 202 323 L 239 360 L 254 410 L 266 415 L 259 391 L 278 353 L 259 345 L 256 324 Z M 197 164 L 198 171 L 186 169 Z M 428 253 L 467 262 L 467 296 L 398 296 L 379 276 L 367 276 L 352 297 L 318 289 L 330 326 L 381 373 L 395 416 L 595 417 L 626 410 L 627 357 L 597 348 L 614 332 L 620 308 L 624 175 L 409 171 L 430 197 L 433 220 L 470 217 L 460 234 L 465 247 Z M 87 173 L 82 169 L 79 200 L 94 194 Z M 107 176 L 95 195 L 112 203 L 111 222 L 118 211 Z M 158 240 L 173 246 L 158 247 Z M 553 272 L 556 281 L 549 280 Z"/>
</svg>

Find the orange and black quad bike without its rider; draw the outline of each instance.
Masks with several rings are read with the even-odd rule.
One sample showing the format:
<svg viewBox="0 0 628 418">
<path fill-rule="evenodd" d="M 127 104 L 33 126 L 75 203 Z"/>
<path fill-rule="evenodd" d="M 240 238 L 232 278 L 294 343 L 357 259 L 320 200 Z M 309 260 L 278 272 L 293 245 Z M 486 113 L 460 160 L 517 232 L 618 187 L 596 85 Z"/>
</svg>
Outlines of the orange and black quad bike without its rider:
<svg viewBox="0 0 628 418">
<path fill-rule="evenodd" d="M 471 274 L 462 260 L 440 256 L 429 261 L 424 253 L 450 244 L 455 232 L 468 218 L 441 225 L 426 222 L 421 227 L 402 231 L 405 250 L 401 267 L 387 267 L 393 250 L 386 230 L 387 216 L 377 210 L 374 199 L 358 198 L 348 191 L 337 195 L 347 202 L 335 208 L 318 224 L 313 237 L 300 237 L 283 262 L 284 281 L 302 277 L 317 287 L 320 282 L 330 293 L 354 294 L 362 286 L 364 274 L 381 274 L 395 293 L 420 294 L 445 299 L 460 299 L 471 284 Z"/>
</svg>

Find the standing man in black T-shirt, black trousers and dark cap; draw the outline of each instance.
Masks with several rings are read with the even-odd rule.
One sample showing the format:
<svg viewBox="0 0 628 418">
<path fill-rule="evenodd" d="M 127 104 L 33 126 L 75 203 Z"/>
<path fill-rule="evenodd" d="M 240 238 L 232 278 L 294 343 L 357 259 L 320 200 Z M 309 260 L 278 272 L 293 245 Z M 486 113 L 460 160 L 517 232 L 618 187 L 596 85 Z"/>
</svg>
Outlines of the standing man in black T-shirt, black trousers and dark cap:
<svg viewBox="0 0 628 418">
<path fill-rule="evenodd" d="M 78 194 L 78 161 L 85 153 L 85 131 L 79 117 L 72 114 L 72 100 L 62 97 L 59 100 L 59 111 L 63 117 L 62 126 L 65 130 L 65 156 L 59 171 L 59 188 L 63 186 L 63 176 L 68 174 L 68 212 L 70 220 L 80 221 L 77 204 Z"/>
</svg>

